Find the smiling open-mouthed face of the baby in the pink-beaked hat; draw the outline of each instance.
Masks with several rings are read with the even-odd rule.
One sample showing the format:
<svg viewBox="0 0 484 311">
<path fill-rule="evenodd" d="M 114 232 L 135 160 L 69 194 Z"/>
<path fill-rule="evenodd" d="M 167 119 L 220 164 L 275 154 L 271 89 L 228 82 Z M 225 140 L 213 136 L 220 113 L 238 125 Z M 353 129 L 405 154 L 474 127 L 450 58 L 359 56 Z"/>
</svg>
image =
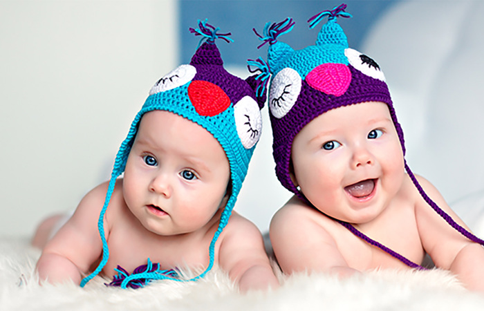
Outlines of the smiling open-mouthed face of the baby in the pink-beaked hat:
<svg viewBox="0 0 484 311">
<path fill-rule="evenodd" d="M 292 144 L 295 182 L 324 214 L 348 223 L 378 216 L 402 186 L 402 147 L 387 104 L 366 102 L 316 117 Z"/>
</svg>

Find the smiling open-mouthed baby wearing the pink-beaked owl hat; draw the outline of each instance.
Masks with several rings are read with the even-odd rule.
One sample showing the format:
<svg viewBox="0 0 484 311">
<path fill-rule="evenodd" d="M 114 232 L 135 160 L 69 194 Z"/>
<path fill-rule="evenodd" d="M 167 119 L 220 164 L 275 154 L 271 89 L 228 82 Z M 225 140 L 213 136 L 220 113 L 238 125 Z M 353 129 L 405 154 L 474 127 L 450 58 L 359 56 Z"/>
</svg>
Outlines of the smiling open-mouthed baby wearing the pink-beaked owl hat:
<svg viewBox="0 0 484 311">
<path fill-rule="evenodd" d="M 484 241 L 404 160 L 403 132 L 380 66 L 348 48 L 338 17 L 322 19 L 316 44 L 294 50 L 278 36 L 292 19 L 266 24 L 273 156 L 295 195 L 274 215 L 270 241 L 283 272 L 348 276 L 425 269 L 428 254 L 471 290 L 484 291 Z M 480 245 L 481 244 L 481 245 Z"/>
</svg>

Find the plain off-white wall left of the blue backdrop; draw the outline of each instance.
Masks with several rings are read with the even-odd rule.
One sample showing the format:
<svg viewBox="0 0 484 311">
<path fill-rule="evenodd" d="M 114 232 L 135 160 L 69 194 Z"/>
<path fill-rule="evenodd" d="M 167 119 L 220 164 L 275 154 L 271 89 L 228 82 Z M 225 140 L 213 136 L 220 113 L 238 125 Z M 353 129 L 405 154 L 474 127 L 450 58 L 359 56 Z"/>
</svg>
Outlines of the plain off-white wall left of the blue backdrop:
<svg viewBox="0 0 484 311">
<path fill-rule="evenodd" d="M 176 0 L 0 1 L 0 235 L 28 236 L 107 180 L 178 64 Z"/>
</svg>

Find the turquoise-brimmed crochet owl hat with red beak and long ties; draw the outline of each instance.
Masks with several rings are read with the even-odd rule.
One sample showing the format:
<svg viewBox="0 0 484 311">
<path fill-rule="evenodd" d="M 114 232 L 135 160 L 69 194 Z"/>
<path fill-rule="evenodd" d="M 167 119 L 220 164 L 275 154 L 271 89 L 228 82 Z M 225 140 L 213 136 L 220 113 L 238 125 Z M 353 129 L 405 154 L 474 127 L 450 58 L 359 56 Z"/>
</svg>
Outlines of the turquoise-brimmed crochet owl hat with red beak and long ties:
<svg viewBox="0 0 484 311">
<path fill-rule="evenodd" d="M 228 37 L 230 33 L 218 34 L 219 28 L 214 28 L 206 20 L 198 21 L 198 26 L 199 29 L 190 28 L 190 31 L 195 35 L 203 36 L 201 41 L 205 40 L 205 42 L 196 50 L 190 64 L 184 64 L 172 70 L 151 88 L 149 97 L 133 120 L 127 138 L 121 144 L 115 158 L 104 207 L 102 207 L 98 222 L 103 244 L 102 261 L 91 275 L 82 280 L 81 286 L 84 286 L 97 275 L 109 258 L 103 217 L 113 194 L 115 180 L 124 172 L 140 120 L 145 113 L 154 110 L 170 111 L 203 126 L 218 140 L 229 160 L 230 180 L 232 182 L 230 198 L 227 200 L 218 229 L 208 249 L 210 263 L 205 272 L 192 280 L 203 277 L 214 265 L 215 243 L 223 228 L 227 225 L 245 174 L 248 171 L 250 158 L 261 135 L 260 109 L 263 107 L 266 98 L 264 95 L 256 96 L 252 89 L 252 87 L 260 86 L 263 83 L 261 79 L 257 78 L 259 75 L 252 75 L 243 80 L 231 75 L 223 68 L 223 61 L 214 41 L 217 38 L 224 39 L 227 42 L 232 41 Z M 127 285 L 131 285 L 129 287 L 136 288 L 143 282 L 147 283 L 150 279 L 174 279 L 171 277 L 173 274 L 162 273 L 159 270 L 159 265 L 158 269 L 151 269 L 152 264 L 149 259 L 147 266 L 146 271 L 133 272 L 131 276 L 118 267 L 116 271 L 125 276 L 121 287 L 125 288 Z M 180 281 L 180 279 L 176 280 Z"/>
</svg>

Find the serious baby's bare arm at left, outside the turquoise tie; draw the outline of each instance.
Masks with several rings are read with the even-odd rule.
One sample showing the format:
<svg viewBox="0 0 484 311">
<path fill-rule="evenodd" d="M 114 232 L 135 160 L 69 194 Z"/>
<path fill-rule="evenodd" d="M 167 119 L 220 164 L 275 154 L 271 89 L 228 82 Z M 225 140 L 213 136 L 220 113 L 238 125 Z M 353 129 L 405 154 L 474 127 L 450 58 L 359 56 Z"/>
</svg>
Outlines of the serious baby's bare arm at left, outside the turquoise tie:
<svg viewBox="0 0 484 311">
<path fill-rule="evenodd" d="M 86 194 L 73 216 L 44 247 L 37 261 L 40 281 L 62 283 L 70 279 L 79 284 L 89 272 L 102 252 L 97 219 L 105 194 L 105 184 Z"/>
</svg>

